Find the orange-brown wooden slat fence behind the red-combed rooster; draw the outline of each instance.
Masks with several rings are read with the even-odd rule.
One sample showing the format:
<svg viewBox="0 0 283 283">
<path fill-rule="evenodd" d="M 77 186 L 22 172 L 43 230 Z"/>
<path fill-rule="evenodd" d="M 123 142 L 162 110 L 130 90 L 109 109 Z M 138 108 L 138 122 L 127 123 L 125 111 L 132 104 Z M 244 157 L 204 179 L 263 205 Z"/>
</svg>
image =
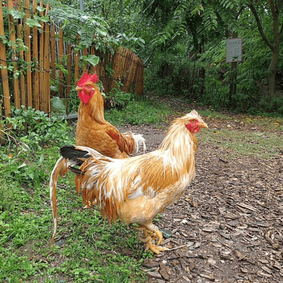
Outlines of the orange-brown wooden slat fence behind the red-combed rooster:
<svg viewBox="0 0 283 283">
<path fill-rule="evenodd" d="M 105 93 L 115 85 L 117 80 L 123 84 L 122 91 L 133 91 L 138 94 L 143 92 L 143 62 L 131 50 L 120 47 L 114 54 L 109 51 L 101 53 L 92 45 L 89 48 L 75 51 L 76 42 L 64 42 L 62 29 L 54 27 L 51 22 L 40 22 L 42 27 L 34 26 L 31 29 L 26 24 L 26 19 L 30 18 L 29 0 L 14 1 L 17 1 L 19 5 L 14 6 L 13 0 L 7 0 L 8 9 L 20 7 L 23 1 L 25 17 L 23 21 L 18 19 L 15 27 L 15 21 L 12 15 L 9 15 L 9 40 L 16 42 L 16 39 L 22 39 L 28 50 L 18 52 L 16 46 L 11 46 L 14 69 L 13 79 L 9 80 L 6 68 L 6 52 L 9 50 L 6 50 L 7 46 L 1 39 L 1 36 L 4 36 L 4 22 L 2 5 L 0 5 L 0 66 L 3 90 L 3 99 L 0 101 L 0 106 L 2 106 L 0 107 L 0 119 L 2 115 L 10 116 L 11 102 L 16 108 L 20 108 L 21 105 L 26 108 L 32 106 L 50 115 L 50 96 L 55 94 L 54 91 L 50 91 L 50 79 L 57 84 L 59 97 L 68 98 L 71 87 L 76 85 L 82 71 L 86 70 L 91 73 L 97 72 Z M 37 1 L 33 0 L 33 15 L 48 15 L 49 4 L 43 6 L 43 0 L 40 0 L 39 6 L 44 7 L 45 10 L 38 12 Z M 78 39 L 79 36 L 77 36 Z M 79 57 L 89 54 L 100 57 L 98 65 L 85 63 L 81 67 Z M 25 62 L 27 66 L 25 72 L 21 72 L 21 66 L 17 63 L 18 58 Z M 109 66 L 114 70 L 111 76 L 107 72 Z M 67 71 L 63 72 L 62 69 Z M 20 75 L 17 76 L 19 72 Z M 9 91 L 11 82 L 13 84 L 12 95 Z M 1 108 L 4 110 L 3 113 L 1 113 Z"/>
</svg>

